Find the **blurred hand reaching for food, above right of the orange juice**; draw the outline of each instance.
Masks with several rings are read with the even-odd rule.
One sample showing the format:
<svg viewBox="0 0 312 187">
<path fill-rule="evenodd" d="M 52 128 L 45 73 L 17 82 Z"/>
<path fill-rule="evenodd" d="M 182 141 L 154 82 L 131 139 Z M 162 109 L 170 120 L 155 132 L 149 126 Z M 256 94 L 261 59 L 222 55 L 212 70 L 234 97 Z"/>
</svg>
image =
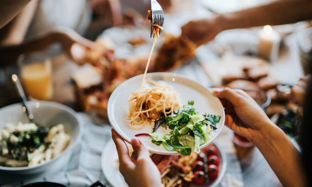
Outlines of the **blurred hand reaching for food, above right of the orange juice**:
<svg viewBox="0 0 312 187">
<path fill-rule="evenodd" d="M 66 54 L 77 63 L 83 63 L 86 51 L 95 45 L 95 42 L 80 36 L 69 28 L 58 28 L 55 32 Z"/>
</svg>

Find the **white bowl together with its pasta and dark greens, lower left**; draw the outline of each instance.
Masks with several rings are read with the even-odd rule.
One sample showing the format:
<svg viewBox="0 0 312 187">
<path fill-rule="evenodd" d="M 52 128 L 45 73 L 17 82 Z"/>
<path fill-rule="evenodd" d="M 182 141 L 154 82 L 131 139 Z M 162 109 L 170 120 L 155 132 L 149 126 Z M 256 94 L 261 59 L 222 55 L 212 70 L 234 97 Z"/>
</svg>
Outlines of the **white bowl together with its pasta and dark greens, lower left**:
<svg viewBox="0 0 312 187">
<path fill-rule="evenodd" d="M 61 166 L 80 139 L 81 125 L 71 108 L 50 101 L 28 104 L 36 124 L 20 103 L 0 109 L 0 171 L 36 174 Z"/>
</svg>

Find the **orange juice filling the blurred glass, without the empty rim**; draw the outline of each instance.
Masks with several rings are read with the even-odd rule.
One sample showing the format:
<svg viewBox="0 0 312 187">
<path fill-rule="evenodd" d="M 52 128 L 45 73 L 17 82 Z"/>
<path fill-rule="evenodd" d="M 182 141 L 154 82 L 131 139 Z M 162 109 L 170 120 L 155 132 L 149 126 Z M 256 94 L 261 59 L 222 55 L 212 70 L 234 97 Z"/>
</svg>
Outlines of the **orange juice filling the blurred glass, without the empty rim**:
<svg viewBox="0 0 312 187">
<path fill-rule="evenodd" d="M 50 99 L 53 95 L 51 64 L 34 62 L 23 65 L 21 79 L 28 95 L 39 100 Z"/>
</svg>

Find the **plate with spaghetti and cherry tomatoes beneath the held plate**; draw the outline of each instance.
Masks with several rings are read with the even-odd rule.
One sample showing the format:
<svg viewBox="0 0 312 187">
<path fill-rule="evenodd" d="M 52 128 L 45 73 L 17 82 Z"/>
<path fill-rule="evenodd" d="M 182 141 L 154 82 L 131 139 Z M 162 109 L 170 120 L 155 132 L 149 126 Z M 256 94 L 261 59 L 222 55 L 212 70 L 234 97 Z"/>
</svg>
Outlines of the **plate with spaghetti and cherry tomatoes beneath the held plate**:
<svg viewBox="0 0 312 187">
<path fill-rule="evenodd" d="M 129 154 L 131 154 L 132 147 L 128 143 L 127 146 Z M 153 154 L 151 154 L 151 157 L 153 157 Z M 213 159 L 214 163 L 211 163 Z M 101 164 L 105 178 L 112 186 L 128 186 L 119 172 L 118 154 L 113 140 L 106 144 L 102 152 Z M 205 170 L 206 167 L 207 170 Z M 217 143 L 212 143 L 202 149 L 199 154 L 192 152 L 189 156 L 173 156 L 173 161 L 161 174 L 161 180 L 163 187 L 215 187 L 224 177 L 226 168 L 227 158 L 225 152 Z"/>
</svg>

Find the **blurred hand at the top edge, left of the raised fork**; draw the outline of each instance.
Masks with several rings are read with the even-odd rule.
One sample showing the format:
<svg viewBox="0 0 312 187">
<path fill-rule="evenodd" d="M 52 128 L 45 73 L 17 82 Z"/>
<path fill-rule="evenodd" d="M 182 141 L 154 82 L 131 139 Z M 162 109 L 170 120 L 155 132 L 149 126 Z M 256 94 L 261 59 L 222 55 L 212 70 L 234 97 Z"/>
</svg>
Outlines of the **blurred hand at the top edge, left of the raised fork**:
<svg viewBox="0 0 312 187">
<path fill-rule="evenodd" d="M 108 25 L 117 26 L 122 23 L 122 12 L 119 0 L 92 0 L 91 7 Z"/>
</svg>

